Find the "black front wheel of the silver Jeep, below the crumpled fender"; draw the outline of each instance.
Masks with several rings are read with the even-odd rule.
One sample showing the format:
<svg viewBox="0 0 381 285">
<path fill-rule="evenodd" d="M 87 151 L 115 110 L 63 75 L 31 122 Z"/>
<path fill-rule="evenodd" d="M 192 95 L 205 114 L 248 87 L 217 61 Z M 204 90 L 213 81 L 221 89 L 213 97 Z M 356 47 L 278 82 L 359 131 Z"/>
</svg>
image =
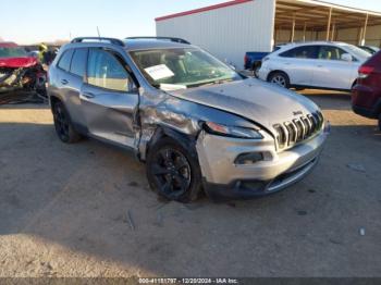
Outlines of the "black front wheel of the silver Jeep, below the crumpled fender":
<svg viewBox="0 0 381 285">
<path fill-rule="evenodd" d="M 151 189 L 169 200 L 187 203 L 201 193 L 197 156 L 172 138 L 164 137 L 150 148 L 146 170 Z"/>
</svg>

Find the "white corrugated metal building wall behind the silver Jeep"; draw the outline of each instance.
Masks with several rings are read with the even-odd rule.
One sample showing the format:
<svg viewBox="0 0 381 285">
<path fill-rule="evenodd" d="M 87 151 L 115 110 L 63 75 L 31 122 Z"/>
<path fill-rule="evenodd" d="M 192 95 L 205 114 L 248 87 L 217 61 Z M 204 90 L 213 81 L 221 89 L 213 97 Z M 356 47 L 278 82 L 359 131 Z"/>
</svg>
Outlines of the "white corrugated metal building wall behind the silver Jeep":
<svg viewBox="0 0 381 285">
<path fill-rule="evenodd" d="M 156 22 L 157 36 L 181 37 L 243 69 L 246 51 L 271 51 L 275 0 L 253 0 Z"/>
</svg>

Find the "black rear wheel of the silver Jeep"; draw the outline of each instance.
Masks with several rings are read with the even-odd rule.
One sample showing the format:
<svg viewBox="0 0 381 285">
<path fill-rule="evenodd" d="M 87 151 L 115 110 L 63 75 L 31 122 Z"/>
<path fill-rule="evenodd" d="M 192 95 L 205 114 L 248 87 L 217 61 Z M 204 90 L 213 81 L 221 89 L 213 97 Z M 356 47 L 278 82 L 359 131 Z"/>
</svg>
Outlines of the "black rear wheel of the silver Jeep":
<svg viewBox="0 0 381 285">
<path fill-rule="evenodd" d="M 81 139 L 81 135 L 75 132 L 66 109 L 61 101 L 53 104 L 53 120 L 58 137 L 65 144 L 74 144 Z"/>
</svg>

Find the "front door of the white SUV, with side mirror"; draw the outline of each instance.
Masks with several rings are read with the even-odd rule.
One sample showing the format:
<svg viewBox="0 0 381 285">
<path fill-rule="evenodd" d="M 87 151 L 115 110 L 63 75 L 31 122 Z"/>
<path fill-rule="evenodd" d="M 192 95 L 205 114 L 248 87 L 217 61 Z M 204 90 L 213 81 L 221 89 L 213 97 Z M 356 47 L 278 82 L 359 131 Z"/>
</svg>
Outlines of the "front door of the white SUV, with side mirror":
<svg viewBox="0 0 381 285">
<path fill-rule="evenodd" d="M 358 63 L 342 60 L 345 50 L 335 46 L 319 46 L 311 86 L 351 89 L 357 77 Z"/>
</svg>

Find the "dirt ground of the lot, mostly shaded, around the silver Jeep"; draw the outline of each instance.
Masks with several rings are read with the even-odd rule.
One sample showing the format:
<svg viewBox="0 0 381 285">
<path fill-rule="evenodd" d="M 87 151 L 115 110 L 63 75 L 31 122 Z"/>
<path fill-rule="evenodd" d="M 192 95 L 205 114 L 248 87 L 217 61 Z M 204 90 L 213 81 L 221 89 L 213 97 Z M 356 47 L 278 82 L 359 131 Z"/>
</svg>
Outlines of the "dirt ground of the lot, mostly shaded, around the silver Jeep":
<svg viewBox="0 0 381 285">
<path fill-rule="evenodd" d="M 130 153 L 1 107 L 0 276 L 381 276 L 381 134 L 348 95 L 307 96 L 332 124 L 319 165 L 220 205 L 161 201 Z"/>
</svg>

